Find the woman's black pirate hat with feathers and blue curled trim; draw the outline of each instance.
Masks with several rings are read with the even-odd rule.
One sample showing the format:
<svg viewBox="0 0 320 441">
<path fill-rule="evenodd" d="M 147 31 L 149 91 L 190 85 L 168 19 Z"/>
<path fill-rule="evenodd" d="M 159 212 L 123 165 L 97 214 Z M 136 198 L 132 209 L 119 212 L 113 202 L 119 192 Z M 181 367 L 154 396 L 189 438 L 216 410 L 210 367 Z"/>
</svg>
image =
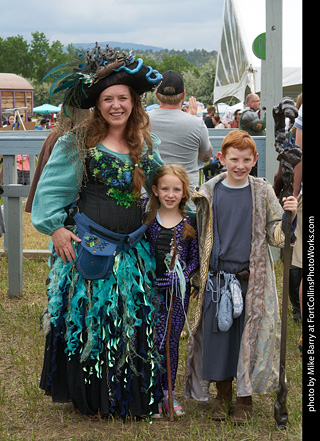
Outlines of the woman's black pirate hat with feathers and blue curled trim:
<svg viewBox="0 0 320 441">
<path fill-rule="evenodd" d="M 75 61 L 60 64 L 42 79 L 55 78 L 50 97 L 65 91 L 63 107 L 80 109 L 94 107 L 96 99 L 107 87 L 125 84 L 139 95 L 151 91 L 161 82 L 162 75 L 145 66 L 143 60 L 135 60 L 132 51 L 118 52 L 106 45 L 105 49 L 96 43 L 91 51 L 77 50 Z"/>
</svg>

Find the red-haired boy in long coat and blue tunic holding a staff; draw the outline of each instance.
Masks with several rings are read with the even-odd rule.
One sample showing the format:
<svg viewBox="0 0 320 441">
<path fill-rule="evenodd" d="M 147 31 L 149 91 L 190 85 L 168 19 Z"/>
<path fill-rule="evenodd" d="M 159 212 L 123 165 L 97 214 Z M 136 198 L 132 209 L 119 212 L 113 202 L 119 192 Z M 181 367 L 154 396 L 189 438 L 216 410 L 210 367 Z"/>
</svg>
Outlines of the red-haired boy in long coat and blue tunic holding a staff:
<svg viewBox="0 0 320 441">
<path fill-rule="evenodd" d="M 188 342 L 184 394 L 206 401 L 210 382 L 217 396 L 212 418 L 251 417 L 253 392 L 268 393 L 279 384 L 280 323 L 275 274 L 269 245 L 284 246 L 284 210 L 294 231 L 297 201 L 283 208 L 265 178 L 249 176 L 258 159 L 245 131 L 230 132 L 218 154 L 227 172 L 193 194 L 197 207 L 200 290 Z M 294 240 L 294 238 L 292 239 Z"/>
</svg>

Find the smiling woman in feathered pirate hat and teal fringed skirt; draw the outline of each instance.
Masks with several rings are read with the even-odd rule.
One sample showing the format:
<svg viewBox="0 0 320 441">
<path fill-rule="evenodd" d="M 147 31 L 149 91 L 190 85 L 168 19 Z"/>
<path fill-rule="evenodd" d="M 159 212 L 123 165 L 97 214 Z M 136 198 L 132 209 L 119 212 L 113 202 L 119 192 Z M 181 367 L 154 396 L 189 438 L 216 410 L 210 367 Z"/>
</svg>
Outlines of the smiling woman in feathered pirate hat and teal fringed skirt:
<svg viewBox="0 0 320 441">
<path fill-rule="evenodd" d="M 51 93 L 64 91 L 63 110 L 75 121 L 77 111 L 92 111 L 66 124 L 31 210 L 53 244 L 40 387 L 85 415 L 148 417 L 162 391 L 141 193 L 163 162 L 140 95 L 162 77 L 108 45 L 76 59 L 47 74 Z"/>
</svg>

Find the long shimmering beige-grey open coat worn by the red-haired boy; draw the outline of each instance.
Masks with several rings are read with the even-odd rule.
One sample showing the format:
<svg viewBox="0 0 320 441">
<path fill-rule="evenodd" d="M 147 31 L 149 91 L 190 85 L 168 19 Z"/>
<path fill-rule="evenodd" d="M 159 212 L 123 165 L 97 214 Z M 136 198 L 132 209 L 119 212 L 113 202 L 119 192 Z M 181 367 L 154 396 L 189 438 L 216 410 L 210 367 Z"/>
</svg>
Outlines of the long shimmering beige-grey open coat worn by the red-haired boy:
<svg viewBox="0 0 320 441">
<path fill-rule="evenodd" d="M 197 207 L 200 252 L 200 290 L 195 319 L 188 341 L 184 394 L 186 398 L 207 400 L 209 382 L 202 380 L 202 307 L 213 244 L 212 202 L 220 174 L 193 193 Z M 280 316 L 273 262 L 269 245 L 283 247 L 281 228 L 283 210 L 270 183 L 249 176 L 252 193 L 252 241 L 250 278 L 245 297 L 245 327 L 242 334 L 237 395 L 267 393 L 278 386 L 280 353 Z M 214 351 L 214 348 L 212 348 Z"/>
</svg>

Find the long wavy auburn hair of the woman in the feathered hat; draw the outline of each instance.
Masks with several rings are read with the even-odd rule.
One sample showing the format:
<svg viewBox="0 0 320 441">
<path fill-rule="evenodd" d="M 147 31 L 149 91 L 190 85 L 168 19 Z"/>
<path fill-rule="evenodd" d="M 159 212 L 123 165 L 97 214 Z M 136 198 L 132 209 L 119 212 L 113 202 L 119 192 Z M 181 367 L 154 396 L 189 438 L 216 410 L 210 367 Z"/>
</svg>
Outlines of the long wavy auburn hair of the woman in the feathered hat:
<svg viewBox="0 0 320 441">
<path fill-rule="evenodd" d="M 152 140 L 150 134 L 150 120 L 145 112 L 140 96 L 129 87 L 133 100 L 133 108 L 131 115 L 127 121 L 124 137 L 127 141 L 130 152 L 129 156 L 133 164 L 139 164 L 141 154 L 143 152 L 144 143 L 146 143 L 150 153 L 152 151 Z M 86 147 L 87 149 L 94 147 L 109 133 L 109 124 L 102 117 L 100 110 L 95 107 L 92 118 L 87 127 Z M 141 192 L 145 183 L 145 175 L 140 167 L 134 167 L 133 172 L 133 191 Z"/>
</svg>

